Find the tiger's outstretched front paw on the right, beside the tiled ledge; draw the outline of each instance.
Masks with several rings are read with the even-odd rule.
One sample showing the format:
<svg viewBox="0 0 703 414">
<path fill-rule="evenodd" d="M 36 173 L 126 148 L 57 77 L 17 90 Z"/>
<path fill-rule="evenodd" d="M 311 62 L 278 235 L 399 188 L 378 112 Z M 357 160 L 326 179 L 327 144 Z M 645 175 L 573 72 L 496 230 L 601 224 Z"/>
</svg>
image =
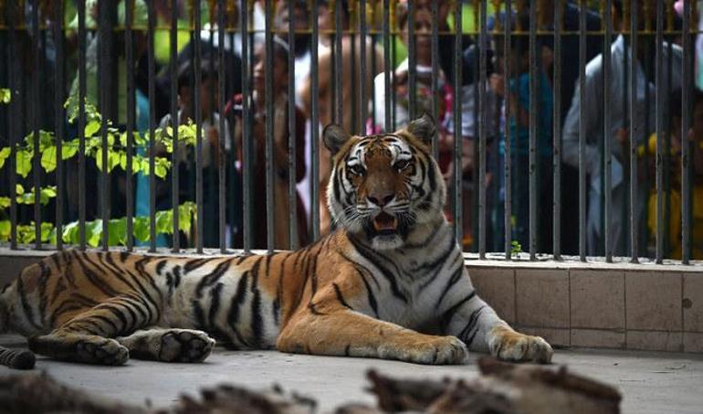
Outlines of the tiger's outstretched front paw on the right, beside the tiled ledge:
<svg viewBox="0 0 703 414">
<path fill-rule="evenodd" d="M 504 326 L 493 328 L 489 342 L 490 354 L 505 361 L 551 363 L 554 351 L 540 336 L 520 334 Z"/>
</svg>

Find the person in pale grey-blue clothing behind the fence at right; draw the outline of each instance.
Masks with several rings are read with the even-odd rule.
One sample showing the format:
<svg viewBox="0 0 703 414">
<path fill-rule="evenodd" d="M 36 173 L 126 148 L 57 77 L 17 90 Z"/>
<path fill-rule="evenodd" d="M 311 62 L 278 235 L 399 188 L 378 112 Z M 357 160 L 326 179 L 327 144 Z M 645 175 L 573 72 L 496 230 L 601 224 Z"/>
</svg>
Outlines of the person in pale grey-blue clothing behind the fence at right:
<svg viewBox="0 0 703 414">
<path fill-rule="evenodd" d="M 646 0 L 650 10 L 655 10 L 655 1 Z M 639 10 L 638 22 L 640 30 L 645 28 L 645 1 L 637 3 Z M 613 17 L 614 27 L 621 27 L 623 32 L 629 30 L 629 18 L 623 18 L 623 2 L 614 0 L 613 2 Z M 628 17 L 628 16 L 625 16 Z M 652 15 L 652 18 L 656 16 Z M 652 27 L 654 22 L 650 22 Z M 629 152 L 629 125 L 628 118 L 630 105 L 635 105 L 635 113 L 637 119 L 633 122 L 638 125 L 635 130 L 635 140 L 637 143 L 644 143 L 645 137 L 652 133 L 655 129 L 656 107 L 654 98 L 656 96 L 655 85 L 655 50 L 656 42 L 654 37 L 639 37 L 638 48 L 635 50 L 635 58 L 637 59 L 637 71 L 635 75 L 636 101 L 630 102 L 629 93 L 629 75 L 628 68 L 624 64 L 624 55 L 632 57 L 631 51 L 625 45 L 623 35 L 619 35 L 609 50 L 611 55 L 610 69 L 610 96 L 603 96 L 603 55 L 598 55 L 593 58 L 586 66 L 586 76 L 584 81 L 585 101 L 585 163 L 584 168 L 586 174 L 589 175 L 588 188 L 588 208 L 587 208 L 587 223 L 586 223 L 586 250 L 589 255 L 603 255 L 604 249 L 604 230 L 603 230 L 603 150 L 599 147 L 599 143 L 603 139 L 612 142 L 611 151 L 612 169 L 611 169 L 611 206 L 610 206 L 610 226 L 607 229 L 608 237 L 610 238 L 610 246 L 615 255 L 624 255 L 629 253 L 629 248 L 626 247 L 626 242 L 629 237 L 625 237 L 627 233 L 627 219 L 625 219 L 625 208 L 627 208 L 627 195 L 629 192 L 629 184 L 624 177 L 629 171 L 629 161 L 625 154 Z M 670 48 L 669 48 L 670 47 Z M 671 53 L 669 53 L 671 50 Z M 664 58 L 664 67 L 662 79 L 671 80 L 670 88 L 676 90 L 681 88 L 681 60 L 682 50 L 677 45 L 670 45 L 664 42 L 662 45 Z M 648 57 L 648 58 L 645 58 Z M 628 58 L 629 62 L 629 58 Z M 629 65 L 629 63 L 628 63 Z M 671 71 L 669 73 L 669 70 Z M 627 83 L 625 83 L 625 75 L 627 74 Z M 626 97 L 626 98 L 625 98 Z M 603 136 L 603 101 L 610 101 L 610 122 L 611 131 Z M 626 101 L 625 101 L 626 100 Z M 648 104 L 646 101 L 649 101 Z M 668 108 L 668 97 L 662 97 L 659 104 L 663 108 Z M 580 101 L 580 85 L 576 85 L 576 90 L 573 94 L 572 106 L 567 114 L 566 121 L 563 126 L 562 152 L 561 159 L 564 163 L 574 167 L 579 166 L 579 119 L 582 102 Z M 647 112 L 648 109 L 648 112 Z M 666 118 L 665 118 L 666 119 Z M 648 123 L 645 123 L 648 120 Z M 632 177 L 636 179 L 636 177 Z M 643 207 L 645 204 L 645 188 L 640 185 L 638 203 L 635 203 L 637 210 L 632 212 L 636 217 L 642 218 L 644 213 Z M 577 218 L 572 218 L 576 222 Z M 640 246 L 643 249 L 638 254 L 644 252 L 646 246 Z"/>
</svg>

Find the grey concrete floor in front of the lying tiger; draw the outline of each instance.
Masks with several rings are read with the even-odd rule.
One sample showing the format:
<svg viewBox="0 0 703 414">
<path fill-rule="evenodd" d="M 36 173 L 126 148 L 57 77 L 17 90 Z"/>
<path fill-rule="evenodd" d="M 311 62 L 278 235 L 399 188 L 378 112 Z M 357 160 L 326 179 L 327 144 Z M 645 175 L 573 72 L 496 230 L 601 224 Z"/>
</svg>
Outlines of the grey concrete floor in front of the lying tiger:
<svg viewBox="0 0 703 414">
<path fill-rule="evenodd" d="M 0 345 L 24 346 L 24 339 L 0 335 Z M 477 355 L 475 355 L 476 357 Z M 474 358 L 475 359 L 475 358 Z M 703 355 L 560 349 L 554 362 L 572 372 L 618 387 L 624 413 L 703 412 Z M 396 377 L 476 377 L 477 366 L 419 366 L 394 361 L 331 356 L 299 356 L 275 351 L 216 348 L 204 364 L 163 364 L 131 360 L 126 366 L 68 364 L 39 358 L 37 369 L 85 391 L 154 407 L 200 387 L 233 383 L 252 389 L 278 383 L 315 398 L 320 412 L 343 402 L 374 403 L 364 392 L 369 368 Z M 0 367 L 0 375 L 11 371 Z M 16 372 L 16 371 L 15 371 Z"/>
</svg>

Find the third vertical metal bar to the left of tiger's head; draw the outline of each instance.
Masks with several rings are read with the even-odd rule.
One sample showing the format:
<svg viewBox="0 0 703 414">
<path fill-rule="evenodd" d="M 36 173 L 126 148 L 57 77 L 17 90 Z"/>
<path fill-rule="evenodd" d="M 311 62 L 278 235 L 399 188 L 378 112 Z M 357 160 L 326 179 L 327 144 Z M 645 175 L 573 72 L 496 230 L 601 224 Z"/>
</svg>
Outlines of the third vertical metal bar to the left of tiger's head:
<svg viewBox="0 0 703 414">
<path fill-rule="evenodd" d="M 273 24 L 271 0 L 266 0 L 266 237 L 268 252 L 274 249 L 274 158 L 273 158 Z"/>
</svg>

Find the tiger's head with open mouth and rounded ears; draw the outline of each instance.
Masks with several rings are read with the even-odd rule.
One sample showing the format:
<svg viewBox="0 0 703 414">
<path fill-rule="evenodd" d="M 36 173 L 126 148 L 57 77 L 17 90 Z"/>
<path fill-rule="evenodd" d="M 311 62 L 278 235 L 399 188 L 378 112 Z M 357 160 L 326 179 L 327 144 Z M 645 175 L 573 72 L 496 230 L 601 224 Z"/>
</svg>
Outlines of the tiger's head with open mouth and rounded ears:
<svg viewBox="0 0 703 414">
<path fill-rule="evenodd" d="M 322 133 L 333 156 L 329 207 L 335 225 L 374 249 L 396 249 L 419 228 L 444 220 L 446 186 L 430 154 L 435 122 L 425 114 L 394 133 Z"/>
</svg>

